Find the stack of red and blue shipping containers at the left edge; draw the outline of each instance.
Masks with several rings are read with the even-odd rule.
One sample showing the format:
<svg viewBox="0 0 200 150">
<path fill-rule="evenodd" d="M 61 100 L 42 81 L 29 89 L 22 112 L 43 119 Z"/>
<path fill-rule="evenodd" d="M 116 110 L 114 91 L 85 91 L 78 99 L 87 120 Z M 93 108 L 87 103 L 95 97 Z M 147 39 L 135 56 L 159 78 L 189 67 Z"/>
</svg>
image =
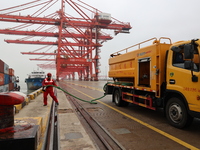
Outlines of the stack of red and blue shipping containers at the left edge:
<svg viewBox="0 0 200 150">
<path fill-rule="evenodd" d="M 14 70 L 0 59 L 0 92 L 16 90 Z"/>
</svg>

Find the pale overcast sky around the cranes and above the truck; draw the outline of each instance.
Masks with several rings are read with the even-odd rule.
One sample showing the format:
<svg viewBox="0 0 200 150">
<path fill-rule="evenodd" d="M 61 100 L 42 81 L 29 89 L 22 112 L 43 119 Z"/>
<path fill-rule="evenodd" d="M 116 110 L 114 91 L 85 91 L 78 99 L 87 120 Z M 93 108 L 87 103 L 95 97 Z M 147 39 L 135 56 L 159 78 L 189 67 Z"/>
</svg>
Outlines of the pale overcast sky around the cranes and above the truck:
<svg viewBox="0 0 200 150">
<path fill-rule="evenodd" d="M 0 9 L 27 3 L 33 0 L 6 0 L 2 1 Z M 85 3 L 110 13 L 112 17 L 130 22 L 132 29 L 130 34 L 114 35 L 114 38 L 103 43 L 101 47 L 101 73 L 108 71 L 108 59 L 111 53 L 145 41 L 153 37 L 169 37 L 172 42 L 191 40 L 200 37 L 200 13 L 199 0 L 83 0 Z M 57 7 L 60 4 L 58 3 Z M 57 9 L 51 11 L 55 12 Z M 2 13 L 2 12 L 0 12 Z M 67 12 L 70 14 L 70 12 Z M 23 13 L 21 14 L 23 15 Z M 91 14 L 92 16 L 92 14 Z M 12 26 L 12 23 L 0 22 L 0 29 Z M 29 58 L 38 58 L 37 55 L 22 55 L 20 52 L 28 52 L 37 49 L 35 45 L 7 44 L 4 39 L 17 39 L 24 36 L 0 34 L 1 53 L 0 59 L 15 70 L 15 75 L 20 80 L 25 80 L 28 73 L 37 69 L 36 64 L 43 61 L 30 61 Z M 41 46 L 39 46 L 41 47 Z M 49 70 L 44 70 L 49 72 Z M 50 70 L 53 72 L 53 70 Z"/>
</svg>

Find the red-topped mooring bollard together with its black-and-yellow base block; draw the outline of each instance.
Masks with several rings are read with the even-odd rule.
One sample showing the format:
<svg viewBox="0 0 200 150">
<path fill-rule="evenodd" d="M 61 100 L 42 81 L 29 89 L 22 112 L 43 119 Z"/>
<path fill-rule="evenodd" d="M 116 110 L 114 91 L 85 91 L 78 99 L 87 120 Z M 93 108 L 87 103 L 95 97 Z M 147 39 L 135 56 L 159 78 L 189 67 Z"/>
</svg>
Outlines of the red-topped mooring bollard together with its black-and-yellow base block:
<svg viewBox="0 0 200 150">
<path fill-rule="evenodd" d="M 0 150 L 37 150 L 38 119 L 14 118 L 14 105 L 25 99 L 26 95 L 20 92 L 0 93 Z"/>
</svg>

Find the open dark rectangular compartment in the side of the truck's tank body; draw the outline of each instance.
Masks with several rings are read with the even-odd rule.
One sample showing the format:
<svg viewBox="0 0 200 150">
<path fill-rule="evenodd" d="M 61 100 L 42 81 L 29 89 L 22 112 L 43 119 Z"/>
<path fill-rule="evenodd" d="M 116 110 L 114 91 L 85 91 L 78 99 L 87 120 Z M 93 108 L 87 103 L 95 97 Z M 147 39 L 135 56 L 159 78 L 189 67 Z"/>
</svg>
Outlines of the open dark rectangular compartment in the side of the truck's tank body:
<svg viewBox="0 0 200 150">
<path fill-rule="evenodd" d="M 138 86 L 150 87 L 150 58 L 138 60 Z"/>
</svg>

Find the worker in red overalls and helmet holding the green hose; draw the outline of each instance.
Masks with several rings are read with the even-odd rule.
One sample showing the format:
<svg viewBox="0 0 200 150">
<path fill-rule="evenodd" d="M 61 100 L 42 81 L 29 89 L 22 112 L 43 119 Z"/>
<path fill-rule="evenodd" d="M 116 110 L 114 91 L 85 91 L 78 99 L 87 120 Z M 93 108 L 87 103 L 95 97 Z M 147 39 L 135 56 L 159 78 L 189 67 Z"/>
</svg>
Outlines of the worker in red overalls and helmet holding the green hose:
<svg viewBox="0 0 200 150">
<path fill-rule="evenodd" d="M 44 105 L 43 106 L 47 106 L 47 96 L 48 94 L 52 97 L 52 99 L 56 102 L 57 105 L 59 105 L 58 103 L 58 99 L 57 97 L 54 95 L 54 92 L 53 92 L 53 87 L 52 86 L 48 86 L 48 87 L 45 87 L 46 85 L 54 85 L 54 86 L 57 86 L 55 81 L 51 78 L 51 73 L 47 73 L 47 78 L 45 78 L 43 81 L 42 81 L 42 91 L 43 92 L 43 102 L 44 102 Z M 45 89 L 46 88 L 46 89 Z"/>
</svg>

